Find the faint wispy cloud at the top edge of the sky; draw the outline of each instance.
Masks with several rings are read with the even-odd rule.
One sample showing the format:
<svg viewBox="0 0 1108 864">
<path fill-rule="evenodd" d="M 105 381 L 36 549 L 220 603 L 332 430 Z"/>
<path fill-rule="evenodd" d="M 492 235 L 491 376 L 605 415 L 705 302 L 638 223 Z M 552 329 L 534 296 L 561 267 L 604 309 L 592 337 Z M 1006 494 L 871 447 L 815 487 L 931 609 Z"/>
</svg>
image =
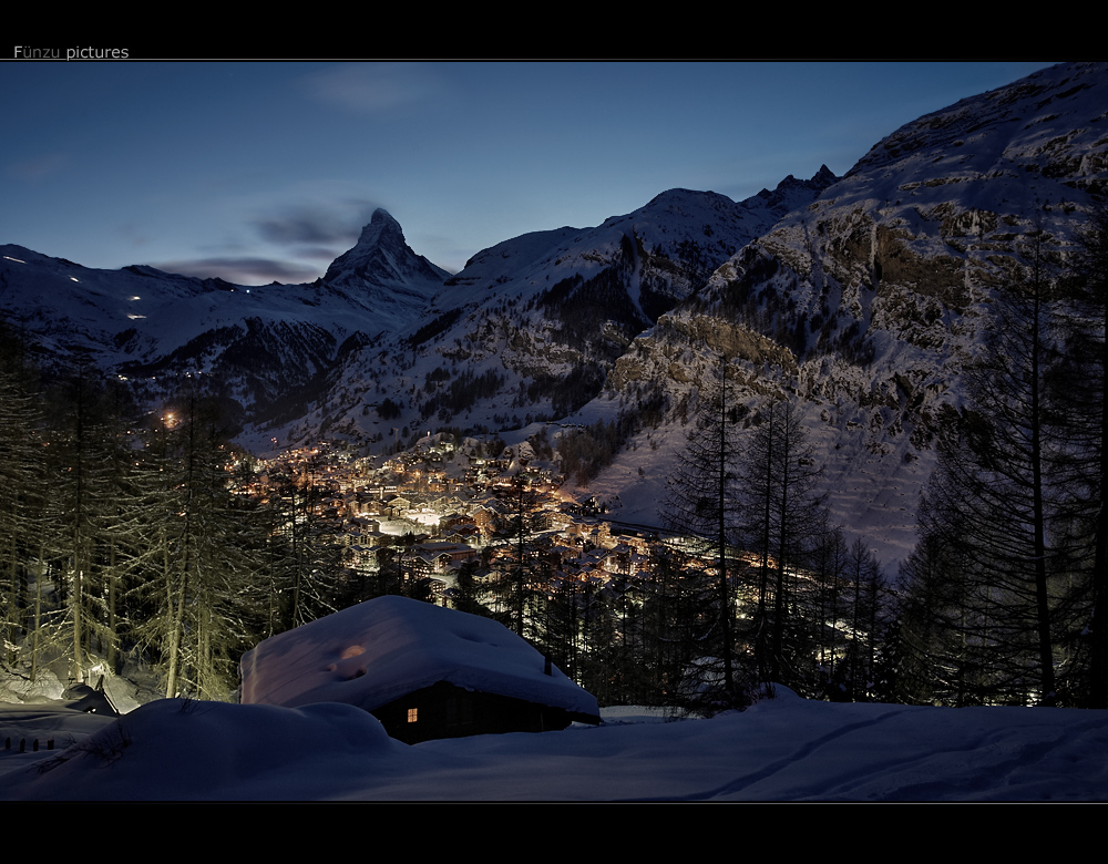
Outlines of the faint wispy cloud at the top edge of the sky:
<svg viewBox="0 0 1108 864">
<path fill-rule="evenodd" d="M 376 113 L 433 99 L 443 90 L 440 73 L 424 63 L 345 63 L 301 80 L 326 104 Z"/>
</svg>

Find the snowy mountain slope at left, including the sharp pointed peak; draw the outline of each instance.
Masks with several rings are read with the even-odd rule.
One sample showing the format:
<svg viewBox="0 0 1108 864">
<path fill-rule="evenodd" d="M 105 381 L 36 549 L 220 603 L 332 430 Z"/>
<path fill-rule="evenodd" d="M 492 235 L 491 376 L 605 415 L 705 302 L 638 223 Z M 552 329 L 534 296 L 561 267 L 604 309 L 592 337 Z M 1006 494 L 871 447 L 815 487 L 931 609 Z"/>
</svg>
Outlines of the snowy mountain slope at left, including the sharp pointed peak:
<svg viewBox="0 0 1108 864">
<path fill-rule="evenodd" d="M 0 316 L 37 343 L 47 368 L 89 356 L 143 380 L 146 399 L 191 376 L 232 394 L 248 415 L 271 414 L 343 350 L 417 319 L 449 276 L 408 247 L 384 210 L 314 285 L 234 286 L 146 266 L 92 270 L 18 246 L 0 255 Z M 284 410 L 297 413 L 295 403 Z"/>
</svg>

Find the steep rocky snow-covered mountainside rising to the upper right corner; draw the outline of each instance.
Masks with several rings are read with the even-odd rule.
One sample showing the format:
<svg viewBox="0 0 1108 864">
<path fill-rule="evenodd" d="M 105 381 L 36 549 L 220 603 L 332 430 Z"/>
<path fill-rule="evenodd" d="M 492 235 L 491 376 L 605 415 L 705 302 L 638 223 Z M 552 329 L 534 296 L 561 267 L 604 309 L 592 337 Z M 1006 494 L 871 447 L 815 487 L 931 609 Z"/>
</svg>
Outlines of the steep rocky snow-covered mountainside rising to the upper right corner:
<svg viewBox="0 0 1108 864">
<path fill-rule="evenodd" d="M 834 514 L 881 536 L 886 560 L 903 557 L 982 304 L 1027 264 L 1033 230 L 1047 255 L 1065 254 L 1106 182 L 1102 64 L 1056 66 L 921 117 L 663 316 L 602 399 L 649 388 L 673 419 L 728 353 L 749 404 L 799 394 Z M 669 431 L 679 446 L 680 424 Z"/>
</svg>

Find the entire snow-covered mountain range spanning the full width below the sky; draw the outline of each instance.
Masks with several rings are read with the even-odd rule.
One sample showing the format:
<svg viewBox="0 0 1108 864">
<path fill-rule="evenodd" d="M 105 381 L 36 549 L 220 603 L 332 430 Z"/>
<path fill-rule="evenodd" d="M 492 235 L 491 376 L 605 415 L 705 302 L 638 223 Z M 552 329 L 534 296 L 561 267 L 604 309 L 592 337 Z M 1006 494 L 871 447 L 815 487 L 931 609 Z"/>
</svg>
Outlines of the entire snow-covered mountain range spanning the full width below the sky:
<svg viewBox="0 0 1108 864">
<path fill-rule="evenodd" d="M 894 131 L 842 178 L 823 168 L 739 203 L 671 189 L 594 228 L 505 240 L 454 276 L 378 210 L 322 279 L 249 291 L 6 246 L 0 313 L 44 359 L 90 353 L 148 400 L 199 377 L 242 405 L 246 443 L 510 438 L 649 405 L 593 483 L 647 522 L 726 352 L 745 400 L 801 397 L 835 515 L 899 557 L 982 304 L 1033 229 L 1064 255 L 1106 194 L 1108 66 L 1061 64 Z"/>
</svg>

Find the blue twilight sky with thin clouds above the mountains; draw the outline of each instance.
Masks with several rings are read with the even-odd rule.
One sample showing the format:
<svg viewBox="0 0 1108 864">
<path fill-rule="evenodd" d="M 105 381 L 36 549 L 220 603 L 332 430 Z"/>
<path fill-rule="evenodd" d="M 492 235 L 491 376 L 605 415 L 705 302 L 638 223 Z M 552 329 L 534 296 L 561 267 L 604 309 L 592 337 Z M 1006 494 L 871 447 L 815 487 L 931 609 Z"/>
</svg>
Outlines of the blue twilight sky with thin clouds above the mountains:
<svg viewBox="0 0 1108 864">
<path fill-rule="evenodd" d="M 736 200 L 1046 62 L 0 65 L 0 243 L 307 281 L 376 207 L 449 270 L 674 187 Z"/>
</svg>

